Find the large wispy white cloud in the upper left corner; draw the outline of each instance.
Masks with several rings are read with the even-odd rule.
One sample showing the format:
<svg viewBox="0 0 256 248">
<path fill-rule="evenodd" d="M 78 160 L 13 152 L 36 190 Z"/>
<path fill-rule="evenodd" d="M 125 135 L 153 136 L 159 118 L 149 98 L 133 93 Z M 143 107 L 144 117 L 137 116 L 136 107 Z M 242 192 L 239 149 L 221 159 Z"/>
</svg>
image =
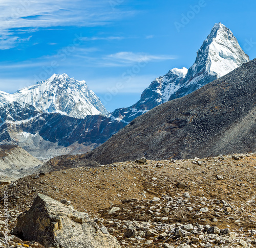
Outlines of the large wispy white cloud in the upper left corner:
<svg viewBox="0 0 256 248">
<path fill-rule="evenodd" d="M 108 0 L 1 0 L 0 9 L 0 49 L 14 47 L 24 41 L 19 34 L 40 28 L 93 27 L 135 13 L 129 10 L 111 11 Z"/>
</svg>

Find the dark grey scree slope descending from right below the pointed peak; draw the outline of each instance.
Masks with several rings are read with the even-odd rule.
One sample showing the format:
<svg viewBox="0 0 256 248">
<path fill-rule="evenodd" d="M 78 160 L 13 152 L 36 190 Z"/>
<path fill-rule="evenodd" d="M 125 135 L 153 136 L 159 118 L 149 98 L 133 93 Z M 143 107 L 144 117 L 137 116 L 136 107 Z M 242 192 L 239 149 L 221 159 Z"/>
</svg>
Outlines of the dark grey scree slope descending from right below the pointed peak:
<svg viewBox="0 0 256 248">
<path fill-rule="evenodd" d="M 86 156 L 102 164 L 251 152 L 256 148 L 256 59 L 137 117 Z"/>
</svg>

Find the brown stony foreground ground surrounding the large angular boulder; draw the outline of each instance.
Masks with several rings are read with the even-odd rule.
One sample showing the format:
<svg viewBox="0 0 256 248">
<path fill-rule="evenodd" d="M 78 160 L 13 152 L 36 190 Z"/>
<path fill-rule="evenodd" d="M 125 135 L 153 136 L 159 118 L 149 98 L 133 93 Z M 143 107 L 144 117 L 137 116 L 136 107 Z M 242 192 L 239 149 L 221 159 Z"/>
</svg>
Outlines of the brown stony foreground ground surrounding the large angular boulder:
<svg viewBox="0 0 256 248">
<path fill-rule="evenodd" d="M 17 215 L 38 193 L 87 212 L 123 248 L 256 247 L 255 172 L 256 154 L 241 154 L 128 161 L 28 176 L 0 188 L 0 247 L 43 247 L 11 235 Z"/>
</svg>

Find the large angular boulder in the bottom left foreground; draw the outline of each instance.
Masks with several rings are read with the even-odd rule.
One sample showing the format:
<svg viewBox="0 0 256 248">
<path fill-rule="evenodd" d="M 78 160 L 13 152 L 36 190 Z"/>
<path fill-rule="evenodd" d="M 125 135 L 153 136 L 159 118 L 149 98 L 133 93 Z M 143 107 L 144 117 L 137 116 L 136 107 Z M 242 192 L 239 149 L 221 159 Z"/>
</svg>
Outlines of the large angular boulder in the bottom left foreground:
<svg viewBox="0 0 256 248">
<path fill-rule="evenodd" d="M 31 208 L 20 214 L 13 234 L 54 248 L 119 248 L 106 228 L 51 197 L 38 194 Z"/>
</svg>

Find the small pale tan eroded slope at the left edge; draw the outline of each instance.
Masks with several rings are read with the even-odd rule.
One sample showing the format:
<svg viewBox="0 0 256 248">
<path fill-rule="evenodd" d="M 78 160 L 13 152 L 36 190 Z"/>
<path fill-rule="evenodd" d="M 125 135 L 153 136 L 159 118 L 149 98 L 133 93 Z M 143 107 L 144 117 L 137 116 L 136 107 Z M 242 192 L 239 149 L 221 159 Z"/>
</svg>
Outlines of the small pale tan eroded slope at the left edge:
<svg viewBox="0 0 256 248">
<path fill-rule="evenodd" d="M 0 182 L 31 175 L 42 164 L 17 145 L 0 145 Z"/>
</svg>

